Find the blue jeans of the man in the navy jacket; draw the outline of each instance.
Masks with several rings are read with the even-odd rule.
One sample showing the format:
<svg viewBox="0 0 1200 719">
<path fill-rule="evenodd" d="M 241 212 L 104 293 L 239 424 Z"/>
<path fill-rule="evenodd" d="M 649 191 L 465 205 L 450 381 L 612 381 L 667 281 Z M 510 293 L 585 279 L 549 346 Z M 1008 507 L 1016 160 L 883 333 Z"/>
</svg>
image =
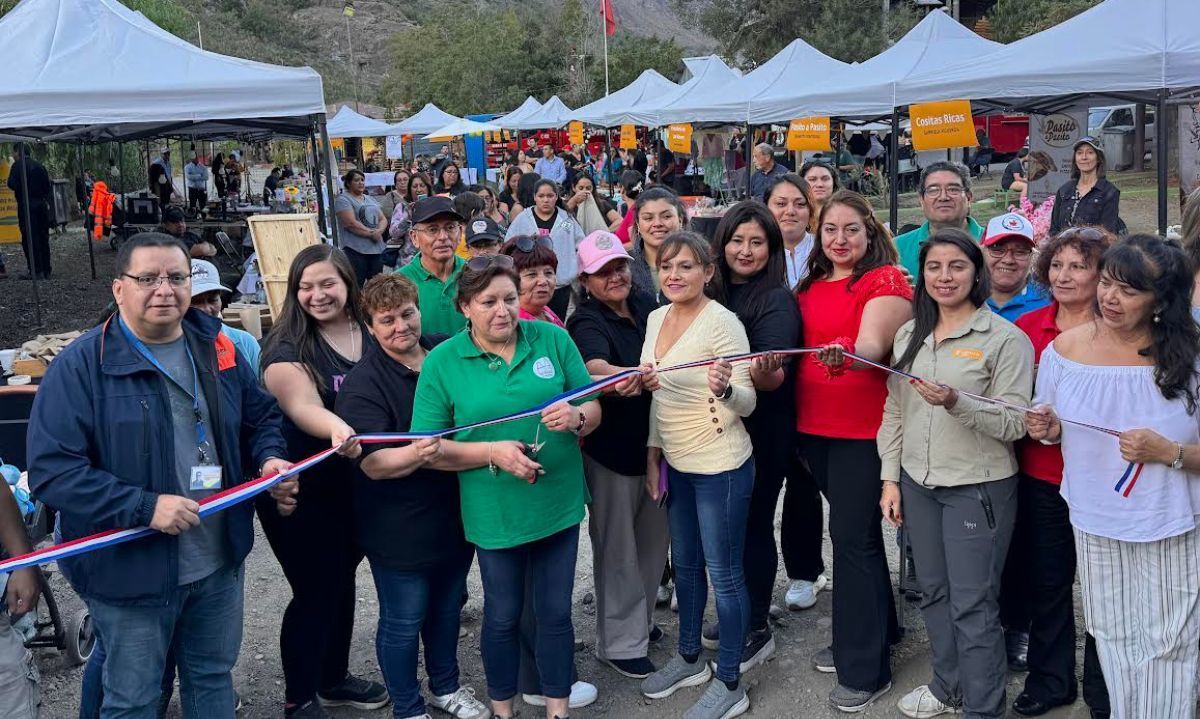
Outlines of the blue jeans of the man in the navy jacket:
<svg viewBox="0 0 1200 719">
<path fill-rule="evenodd" d="M 242 582 L 238 564 L 176 587 L 161 606 L 89 599 L 96 630 L 106 637 L 102 719 L 154 719 L 173 637 L 184 715 L 233 717 L 230 672 L 241 648 Z"/>
</svg>

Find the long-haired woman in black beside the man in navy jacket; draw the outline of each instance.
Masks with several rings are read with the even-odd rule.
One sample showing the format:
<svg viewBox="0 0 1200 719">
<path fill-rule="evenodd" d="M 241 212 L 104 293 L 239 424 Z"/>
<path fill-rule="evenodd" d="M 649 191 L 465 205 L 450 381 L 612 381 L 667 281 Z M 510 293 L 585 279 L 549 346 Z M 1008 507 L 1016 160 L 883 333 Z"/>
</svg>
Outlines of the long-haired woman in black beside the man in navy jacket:
<svg viewBox="0 0 1200 719">
<path fill-rule="evenodd" d="M 307 457 L 332 444 L 354 457 L 354 429 L 334 414 L 342 379 L 374 340 L 364 329 L 359 283 L 346 254 L 329 245 L 301 250 L 288 270 L 287 296 L 263 347 L 263 384 L 283 411 L 288 454 Z M 354 573 L 362 551 L 354 541 L 350 468 L 330 457 L 304 473 L 295 511 L 280 514 L 265 495 L 257 502 L 266 540 L 292 587 L 280 652 L 284 714 L 322 717 L 320 705 L 373 709 L 388 690 L 349 673 L 354 633 Z M 295 493 L 295 480 L 280 493 Z M 319 700 L 319 701 L 318 701 Z"/>
</svg>

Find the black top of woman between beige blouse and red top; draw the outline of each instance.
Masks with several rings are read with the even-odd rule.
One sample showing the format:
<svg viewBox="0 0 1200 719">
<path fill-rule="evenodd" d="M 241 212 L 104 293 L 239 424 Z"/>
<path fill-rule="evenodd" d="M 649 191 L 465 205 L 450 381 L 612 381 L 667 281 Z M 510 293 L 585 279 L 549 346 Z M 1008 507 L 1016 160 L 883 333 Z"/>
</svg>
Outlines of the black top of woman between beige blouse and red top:
<svg viewBox="0 0 1200 719">
<path fill-rule="evenodd" d="M 730 286 L 730 310 L 746 329 L 750 352 L 787 349 L 800 341 L 800 311 L 796 298 L 786 287 L 772 289 L 758 307 L 746 306 L 750 284 Z M 786 360 L 785 360 L 786 361 Z M 796 433 L 796 369 L 794 361 L 784 367 L 784 384 L 773 391 L 760 391 L 754 414 L 745 419 L 746 431 L 755 448 L 760 471 L 781 471 Z M 770 462 L 774 467 L 768 467 Z"/>
</svg>

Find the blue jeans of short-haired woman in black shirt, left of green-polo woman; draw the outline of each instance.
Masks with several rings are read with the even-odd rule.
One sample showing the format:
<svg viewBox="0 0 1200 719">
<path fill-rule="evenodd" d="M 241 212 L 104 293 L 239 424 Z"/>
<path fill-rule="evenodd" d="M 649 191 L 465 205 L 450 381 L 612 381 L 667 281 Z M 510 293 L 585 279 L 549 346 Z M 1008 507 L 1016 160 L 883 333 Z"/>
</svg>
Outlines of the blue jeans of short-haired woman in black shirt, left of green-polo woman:
<svg viewBox="0 0 1200 719">
<path fill-rule="evenodd" d="M 416 658 L 425 642 L 425 673 L 437 696 L 458 690 L 458 616 L 469 562 L 397 571 L 371 563 L 379 595 L 376 653 L 397 719 L 425 713 Z"/>
</svg>

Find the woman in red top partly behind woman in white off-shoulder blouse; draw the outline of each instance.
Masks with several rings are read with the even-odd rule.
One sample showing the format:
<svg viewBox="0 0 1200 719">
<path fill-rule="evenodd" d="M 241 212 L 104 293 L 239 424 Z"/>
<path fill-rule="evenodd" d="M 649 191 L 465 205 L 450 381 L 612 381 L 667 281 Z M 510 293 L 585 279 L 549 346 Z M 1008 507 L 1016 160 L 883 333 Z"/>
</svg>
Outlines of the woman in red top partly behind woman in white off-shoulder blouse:
<svg viewBox="0 0 1200 719">
<path fill-rule="evenodd" d="M 1033 278 L 1050 289 L 1054 301 L 1022 314 L 1016 326 L 1033 342 L 1033 361 L 1055 337 L 1096 319 L 1099 260 L 1116 238 L 1093 227 L 1073 227 L 1051 238 L 1039 250 Z M 1037 366 L 1037 365 L 1034 365 Z M 1018 489 L 1013 544 L 1027 547 L 1018 559 L 1022 571 L 1008 573 L 1004 587 L 1025 597 L 1030 615 L 1028 670 L 1025 690 L 1013 702 L 1022 717 L 1038 717 L 1075 701 L 1075 538 L 1062 483 L 1062 450 L 1025 438 L 1016 444 L 1021 479 Z M 1009 553 L 1009 561 L 1013 561 Z M 1108 691 L 1099 671 L 1094 642 L 1085 652 L 1084 699 L 1092 708 L 1108 708 Z M 1091 654 L 1091 655 L 1088 655 Z M 1098 690 L 1094 683 L 1099 683 Z M 1092 700 L 1103 701 L 1097 707 Z"/>
</svg>

